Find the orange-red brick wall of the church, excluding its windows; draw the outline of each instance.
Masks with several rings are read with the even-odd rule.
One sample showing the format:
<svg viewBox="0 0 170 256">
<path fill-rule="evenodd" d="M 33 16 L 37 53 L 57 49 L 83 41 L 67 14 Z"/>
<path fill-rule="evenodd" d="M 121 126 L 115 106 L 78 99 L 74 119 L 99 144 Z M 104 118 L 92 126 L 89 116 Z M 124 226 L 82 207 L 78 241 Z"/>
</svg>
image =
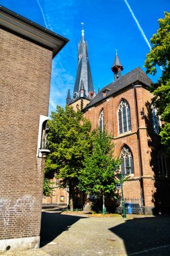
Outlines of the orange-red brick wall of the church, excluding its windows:
<svg viewBox="0 0 170 256">
<path fill-rule="evenodd" d="M 103 109 L 105 128 L 109 132 L 112 131 L 114 133 L 114 156 L 120 156 L 121 150 L 125 144 L 132 151 L 134 174 L 130 175 L 129 180 L 124 183 L 124 197 L 140 198 L 142 187 L 144 191 L 144 205 L 146 207 L 154 206 L 155 173 L 151 162 L 153 159 L 157 161 L 155 152 L 160 145 L 160 137 L 154 134 L 150 118 L 152 97 L 153 95 L 140 85 L 136 86 L 135 97 L 134 86 L 129 86 L 110 98 L 103 98 L 102 102 L 92 106 L 84 113 L 85 117 L 91 121 L 92 129 L 95 129 L 98 126 L 99 114 Z M 130 105 L 132 129 L 126 133 L 118 134 L 118 106 L 122 99 L 125 99 Z M 151 133 L 148 133 L 148 131 Z M 154 146 L 152 145 L 153 142 L 151 143 L 153 137 Z"/>
</svg>

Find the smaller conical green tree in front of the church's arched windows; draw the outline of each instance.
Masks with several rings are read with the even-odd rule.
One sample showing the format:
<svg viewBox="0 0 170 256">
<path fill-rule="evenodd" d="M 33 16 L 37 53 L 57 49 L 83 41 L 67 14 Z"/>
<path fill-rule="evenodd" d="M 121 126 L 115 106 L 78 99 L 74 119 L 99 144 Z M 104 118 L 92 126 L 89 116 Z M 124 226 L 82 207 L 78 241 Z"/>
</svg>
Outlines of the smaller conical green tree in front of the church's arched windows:
<svg viewBox="0 0 170 256">
<path fill-rule="evenodd" d="M 114 172 L 120 161 L 113 157 L 114 143 L 112 135 L 105 129 L 100 132 L 96 129 L 91 133 L 92 152 L 91 156 L 85 155 L 83 168 L 79 174 L 79 189 L 86 194 L 95 194 L 103 198 L 103 210 L 105 208 L 105 195 L 116 190 Z"/>
</svg>

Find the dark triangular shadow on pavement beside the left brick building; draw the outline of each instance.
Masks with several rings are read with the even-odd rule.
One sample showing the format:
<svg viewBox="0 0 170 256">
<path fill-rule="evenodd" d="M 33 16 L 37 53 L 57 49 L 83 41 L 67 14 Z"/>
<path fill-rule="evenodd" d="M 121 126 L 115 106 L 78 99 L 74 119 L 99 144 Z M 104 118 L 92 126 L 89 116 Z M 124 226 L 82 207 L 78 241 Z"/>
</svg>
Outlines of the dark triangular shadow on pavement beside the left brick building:
<svg viewBox="0 0 170 256">
<path fill-rule="evenodd" d="M 81 218 L 86 217 L 62 215 L 56 212 L 42 212 L 40 247 L 53 241 L 63 231 L 69 230 L 69 227 Z"/>
</svg>

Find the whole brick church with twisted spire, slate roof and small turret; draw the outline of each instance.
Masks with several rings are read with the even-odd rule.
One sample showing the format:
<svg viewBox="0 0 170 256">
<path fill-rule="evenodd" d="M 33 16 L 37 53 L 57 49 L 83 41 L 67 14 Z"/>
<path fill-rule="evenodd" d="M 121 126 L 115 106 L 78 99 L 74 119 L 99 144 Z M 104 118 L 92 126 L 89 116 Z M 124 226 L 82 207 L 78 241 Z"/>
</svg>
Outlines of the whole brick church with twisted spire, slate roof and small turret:
<svg viewBox="0 0 170 256">
<path fill-rule="evenodd" d="M 169 207 L 170 170 L 159 135 L 161 120 L 148 91 L 152 81 L 140 67 L 125 75 L 122 70 L 116 53 L 114 82 L 95 94 L 82 30 L 73 97 L 69 90 L 67 104 L 82 110 L 92 129 L 105 126 L 114 133 L 114 155 L 122 160 L 120 172 L 129 177 L 123 186 L 125 202 L 138 200 L 145 214 L 163 212 Z"/>
</svg>

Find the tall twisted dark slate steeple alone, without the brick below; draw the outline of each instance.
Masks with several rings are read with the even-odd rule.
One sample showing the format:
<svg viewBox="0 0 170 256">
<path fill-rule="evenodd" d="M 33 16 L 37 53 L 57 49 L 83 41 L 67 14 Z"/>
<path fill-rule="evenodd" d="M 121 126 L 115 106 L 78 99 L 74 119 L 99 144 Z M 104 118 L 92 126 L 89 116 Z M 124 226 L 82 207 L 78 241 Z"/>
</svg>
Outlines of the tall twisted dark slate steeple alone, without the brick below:
<svg viewBox="0 0 170 256">
<path fill-rule="evenodd" d="M 83 86 L 83 92 L 82 92 Z M 91 100 L 94 96 L 93 80 L 88 58 L 88 46 L 85 42 L 85 30 L 81 30 L 81 40 L 78 44 L 78 65 L 75 79 L 75 88 L 71 103 L 79 98 Z"/>
</svg>

